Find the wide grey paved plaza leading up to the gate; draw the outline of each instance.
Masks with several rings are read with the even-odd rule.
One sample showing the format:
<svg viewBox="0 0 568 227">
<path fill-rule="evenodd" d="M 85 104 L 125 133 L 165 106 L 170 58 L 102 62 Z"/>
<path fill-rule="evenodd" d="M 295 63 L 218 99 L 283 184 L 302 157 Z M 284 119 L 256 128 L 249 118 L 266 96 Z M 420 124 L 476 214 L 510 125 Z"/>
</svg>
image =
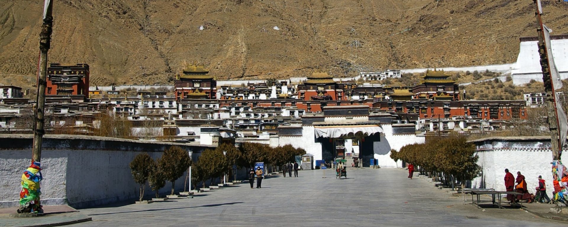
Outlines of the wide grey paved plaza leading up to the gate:
<svg viewBox="0 0 568 227">
<path fill-rule="evenodd" d="M 93 221 L 71 226 L 558 226 L 520 209 L 474 208 L 402 169 L 300 171 L 152 204 L 80 210 Z M 256 187 L 256 186 L 255 186 Z"/>
</svg>

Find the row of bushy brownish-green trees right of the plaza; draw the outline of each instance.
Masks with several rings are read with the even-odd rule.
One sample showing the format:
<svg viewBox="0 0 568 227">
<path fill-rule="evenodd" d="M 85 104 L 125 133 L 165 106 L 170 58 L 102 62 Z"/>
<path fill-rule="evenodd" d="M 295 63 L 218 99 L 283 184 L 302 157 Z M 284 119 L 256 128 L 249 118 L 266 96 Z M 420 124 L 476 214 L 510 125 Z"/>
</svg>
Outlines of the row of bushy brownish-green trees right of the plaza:
<svg viewBox="0 0 568 227">
<path fill-rule="evenodd" d="M 457 180 L 461 183 L 462 192 L 466 181 L 473 180 L 481 171 L 475 146 L 464 136 L 428 137 L 424 144 L 406 145 L 399 152 L 391 150 L 390 157 L 420 166 L 422 173 L 436 181 L 438 176 L 446 182 L 449 179 L 452 187 Z"/>
</svg>

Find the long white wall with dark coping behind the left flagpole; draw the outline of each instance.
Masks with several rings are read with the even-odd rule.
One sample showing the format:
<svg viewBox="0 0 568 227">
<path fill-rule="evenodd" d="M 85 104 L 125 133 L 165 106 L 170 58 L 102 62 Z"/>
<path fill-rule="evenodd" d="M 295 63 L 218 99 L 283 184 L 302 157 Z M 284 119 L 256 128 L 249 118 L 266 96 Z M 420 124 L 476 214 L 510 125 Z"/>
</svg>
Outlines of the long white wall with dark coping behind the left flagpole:
<svg viewBox="0 0 568 227">
<path fill-rule="evenodd" d="M 147 152 L 156 159 L 170 146 L 193 150 L 197 158 L 207 146 L 188 146 L 172 142 L 137 141 L 96 136 L 46 135 L 41 152 L 41 200 L 45 205 L 69 204 L 91 207 L 123 200 L 135 200 L 139 186 L 133 181 L 132 159 Z M 20 179 L 30 166 L 31 134 L 0 134 L 0 207 L 16 207 Z M 183 190 L 185 178 L 176 190 Z M 171 190 L 168 182 L 160 194 Z M 153 192 L 146 188 L 148 197 Z"/>
</svg>

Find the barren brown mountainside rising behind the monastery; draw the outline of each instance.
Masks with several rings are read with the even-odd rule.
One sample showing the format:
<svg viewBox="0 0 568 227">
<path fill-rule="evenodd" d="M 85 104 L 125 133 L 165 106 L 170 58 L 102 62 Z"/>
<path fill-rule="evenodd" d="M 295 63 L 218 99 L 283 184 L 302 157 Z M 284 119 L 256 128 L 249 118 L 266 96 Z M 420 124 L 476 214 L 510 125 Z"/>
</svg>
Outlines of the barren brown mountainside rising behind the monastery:
<svg viewBox="0 0 568 227">
<path fill-rule="evenodd" d="M 542 2 L 568 32 L 568 3 Z M 35 84 L 42 7 L 0 1 L 0 83 Z M 53 15 L 49 61 L 90 64 L 91 85 L 168 83 L 183 60 L 218 79 L 501 64 L 536 35 L 532 0 L 58 0 Z"/>
</svg>

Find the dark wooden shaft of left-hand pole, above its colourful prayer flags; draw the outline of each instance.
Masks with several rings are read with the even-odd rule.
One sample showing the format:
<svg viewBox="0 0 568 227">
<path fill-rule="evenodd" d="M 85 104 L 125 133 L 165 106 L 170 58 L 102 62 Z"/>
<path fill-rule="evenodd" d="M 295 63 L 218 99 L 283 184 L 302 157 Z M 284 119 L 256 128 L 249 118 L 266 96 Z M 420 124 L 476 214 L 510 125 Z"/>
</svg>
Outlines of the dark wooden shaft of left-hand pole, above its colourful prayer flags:
<svg viewBox="0 0 568 227">
<path fill-rule="evenodd" d="M 45 86 L 47 86 L 47 52 L 51 44 L 51 32 L 53 24 L 52 16 L 53 2 L 45 0 L 43 24 L 41 25 L 41 33 L 39 35 L 39 68 L 37 77 L 37 103 L 35 107 L 35 125 L 34 125 L 34 144 L 32 146 L 32 160 L 41 161 L 41 141 L 44 131 L 44 107 L 45 107 Z"/>
</svg>

